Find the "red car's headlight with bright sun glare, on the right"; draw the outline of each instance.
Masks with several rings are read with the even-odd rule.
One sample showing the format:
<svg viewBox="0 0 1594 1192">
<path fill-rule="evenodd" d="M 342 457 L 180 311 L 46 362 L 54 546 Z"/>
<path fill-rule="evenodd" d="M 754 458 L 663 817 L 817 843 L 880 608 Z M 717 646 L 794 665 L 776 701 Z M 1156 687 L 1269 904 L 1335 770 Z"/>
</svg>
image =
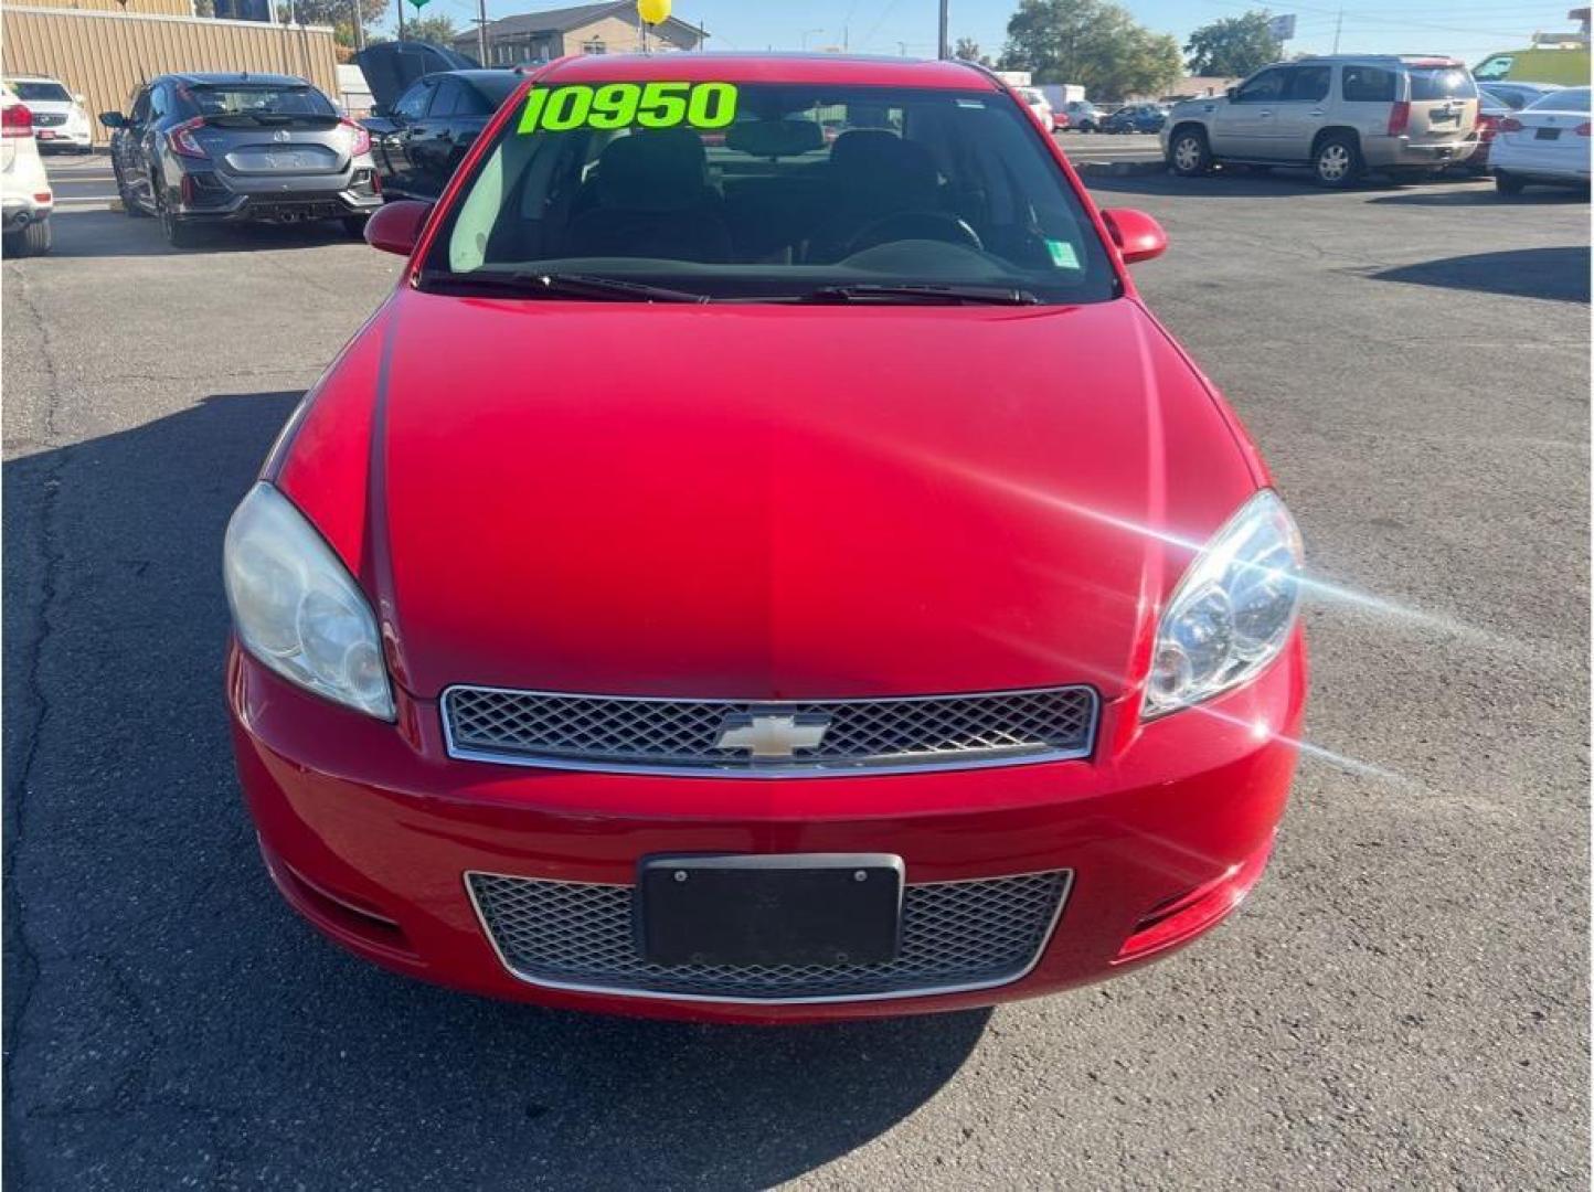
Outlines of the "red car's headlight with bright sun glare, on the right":
<svg viewBox="0 0 1594 1192">
<path fill-rule="evenodd" d="M 1191 563 L 1162 612 L 1141 717 L 1210 700 L 1285 649 L 1301 604 L 1301 531 L 1264 489 Z"/>
</svg>

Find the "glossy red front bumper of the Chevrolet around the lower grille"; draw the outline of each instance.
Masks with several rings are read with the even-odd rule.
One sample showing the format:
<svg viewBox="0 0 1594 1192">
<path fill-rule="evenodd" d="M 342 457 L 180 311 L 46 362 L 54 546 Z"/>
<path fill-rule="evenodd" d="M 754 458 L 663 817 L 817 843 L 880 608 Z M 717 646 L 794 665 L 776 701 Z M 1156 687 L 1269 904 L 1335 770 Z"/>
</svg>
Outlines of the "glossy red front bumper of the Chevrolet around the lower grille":
<svg viewBox="0 0 1594 1192">
<path fill-rule="evenodd" d="M 1266 674 L 1137 725 L 1101 709 L 1095 759 L 925 774 L 730 779 L 448 759 L 435 701 L 398 725 L 285 684 L 236 644 L 228 704 L 245 798 L 287 900 L 346 948 L 461 990 L 725 1021 L 950 1010 L 1100 980 L 1218 923 L 1266 864 L 1294 773 L 1299 637 Z M 467 873 L 630 884 L 687 853 L 889 853 L 910 884 L 1066 870 L 1033 967 L 998 988 L 784 1004 L 550 988 L 513 975 Z M 1125 947 L 1127 945 L 1127 947 Z"/>
</svg>

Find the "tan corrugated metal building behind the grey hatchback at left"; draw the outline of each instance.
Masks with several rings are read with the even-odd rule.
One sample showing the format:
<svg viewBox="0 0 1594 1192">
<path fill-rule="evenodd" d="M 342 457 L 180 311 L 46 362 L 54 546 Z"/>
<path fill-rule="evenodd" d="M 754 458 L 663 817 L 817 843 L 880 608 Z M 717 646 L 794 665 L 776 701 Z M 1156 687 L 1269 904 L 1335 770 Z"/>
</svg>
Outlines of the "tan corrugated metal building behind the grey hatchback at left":
<svg viewBox="0 0 1594 1192">
<path fill-rule="evenodd" d="M 0 6 L 0 67 L 49 75 L 88 97 L 89 115 L 126 112 L 140 83 L 174 70 L 258 70 L 308 78 L 338 99 L 332 29 L 190 16 L 188 0 L 78 0 Z M 182 14 L 151 11 L 180 6 Z M 96 123 L 96 137 L 105 129 Z"/>
</svg>

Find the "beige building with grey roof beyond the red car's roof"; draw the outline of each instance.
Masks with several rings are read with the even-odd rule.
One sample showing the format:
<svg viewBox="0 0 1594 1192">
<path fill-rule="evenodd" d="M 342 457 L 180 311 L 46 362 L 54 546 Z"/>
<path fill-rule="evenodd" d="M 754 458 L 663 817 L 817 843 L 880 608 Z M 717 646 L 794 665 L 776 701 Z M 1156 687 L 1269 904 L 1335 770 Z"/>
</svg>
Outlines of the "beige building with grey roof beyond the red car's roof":
<svg viewBox="0 0 1594 1192">
<path fill-rule="evenodd" d="M 701 29 L 669 18 L 647 27 L 647 49 L 701 49 Z M 634 0 L 615 0 L 542 13 L 518 13 L 488 22 L 485 67 L 550 62 L 566 54 L 633 54 L 642 49 L 642 21 Z M 478 57 L 475 32 L 454 38 L 454 49 Z"/>
</svg>

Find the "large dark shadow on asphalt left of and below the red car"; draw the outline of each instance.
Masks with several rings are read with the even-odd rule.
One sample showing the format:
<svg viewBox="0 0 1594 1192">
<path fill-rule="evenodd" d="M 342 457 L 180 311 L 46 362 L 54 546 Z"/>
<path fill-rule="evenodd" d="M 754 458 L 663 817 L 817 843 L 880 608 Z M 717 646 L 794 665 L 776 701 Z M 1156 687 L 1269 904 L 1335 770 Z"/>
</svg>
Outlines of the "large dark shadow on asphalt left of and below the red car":
<svg viewBox="0 0 1594 1192">
<path fill-rule="evenodd" d="M 988 1012 L 542 1010 L 378 970 L 281 902 L 233 773 L 220 543 L 298 397 L 0 470 L 10 1186 L 752 1189 L 934 1096 Z"/>
</svg>

